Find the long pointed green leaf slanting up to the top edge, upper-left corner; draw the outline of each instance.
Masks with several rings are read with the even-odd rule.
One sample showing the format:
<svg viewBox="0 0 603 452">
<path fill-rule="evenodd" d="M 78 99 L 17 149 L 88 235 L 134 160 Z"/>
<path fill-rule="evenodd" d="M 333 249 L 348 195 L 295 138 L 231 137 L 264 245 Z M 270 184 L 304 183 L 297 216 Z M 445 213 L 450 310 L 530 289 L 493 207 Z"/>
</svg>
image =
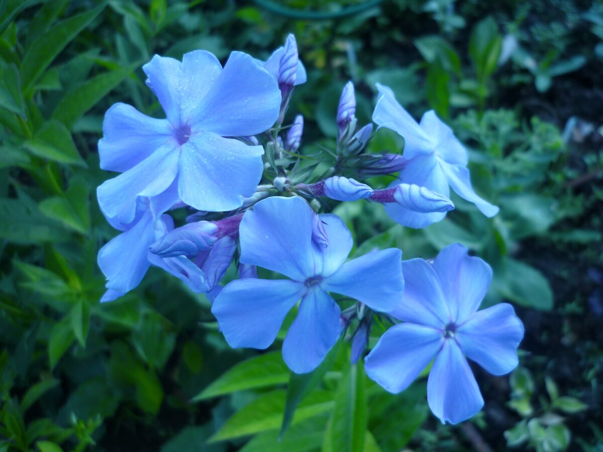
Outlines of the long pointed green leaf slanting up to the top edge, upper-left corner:
<svg viewBox="0 0 603 452">
<path fill-rule="evenodd" d="M 52 60 L 103 11 L 104 7 L 104 4 L 100 4 L 90 11 L 63 20 L 31 45 L 21 63 L 21 80 L 25 93 L 30 91 Z"/>
</svg>

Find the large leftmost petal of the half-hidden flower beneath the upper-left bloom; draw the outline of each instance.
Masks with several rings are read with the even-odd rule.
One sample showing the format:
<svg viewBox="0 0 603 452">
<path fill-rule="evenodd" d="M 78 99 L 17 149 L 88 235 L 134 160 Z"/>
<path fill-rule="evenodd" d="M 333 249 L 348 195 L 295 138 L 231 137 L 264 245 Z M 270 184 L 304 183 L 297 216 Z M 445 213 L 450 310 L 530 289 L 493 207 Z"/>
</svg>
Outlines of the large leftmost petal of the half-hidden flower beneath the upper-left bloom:
<svg viewBox="0 0 603 452">
<path fill-rule="evenodd" d="M 150 265 L 148 247 L 155 241 L 153 224 L 153 215 L 148 212 L 98 252 L 98 266 L 107 277 L 107 289 L 125 293 L 142 281 Z"/>
</svg>

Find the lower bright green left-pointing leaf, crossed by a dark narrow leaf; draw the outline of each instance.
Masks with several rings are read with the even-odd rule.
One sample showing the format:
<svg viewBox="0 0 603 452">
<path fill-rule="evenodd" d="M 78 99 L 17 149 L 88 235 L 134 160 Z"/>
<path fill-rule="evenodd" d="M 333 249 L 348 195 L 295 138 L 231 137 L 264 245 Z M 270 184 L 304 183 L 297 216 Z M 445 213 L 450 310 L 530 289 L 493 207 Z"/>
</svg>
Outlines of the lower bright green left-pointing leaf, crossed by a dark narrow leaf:
<svg viewBox="0 0 603 452">
<path fill-rule="evenodd" d="M 239 436 L 253 435 L 280 427 L 285 409 L 285 390 L 262 394 L 243 409 L 236 412 L 210 438 L 209 442 L 224 441 Z M 314 391 L 301 401 L 291 425 L 333 409 L 333 395 L 329 391 Z"/>
</svg>

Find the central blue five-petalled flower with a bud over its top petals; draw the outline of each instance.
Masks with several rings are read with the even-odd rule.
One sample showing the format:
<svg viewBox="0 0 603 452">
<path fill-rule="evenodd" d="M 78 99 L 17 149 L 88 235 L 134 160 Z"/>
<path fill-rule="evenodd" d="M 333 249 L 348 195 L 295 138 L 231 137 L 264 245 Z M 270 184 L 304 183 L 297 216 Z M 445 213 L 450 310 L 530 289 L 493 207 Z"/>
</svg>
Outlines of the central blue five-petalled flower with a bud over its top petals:
<svg viewBox="0 0 603 452">
<path fill-rule="evenodd" d="M 245 213 L 239 229 L 241 262 L 291 280 L 247 278 L 227 284 L 213 303 L 231 347 L 267 348 L 301 298 L 283 342 L 283 358 L 297 373 L 315 369 L 341 334 L 341 310 L 329 292 L 388 312 L 403 291 L 402 252 L 390 248 L 346 262 L 352 234 L 336 215 L 320 215 L 328 246 L 312 237 L 315 213 L 301 198 L 264 199 Z"/>
</svg>

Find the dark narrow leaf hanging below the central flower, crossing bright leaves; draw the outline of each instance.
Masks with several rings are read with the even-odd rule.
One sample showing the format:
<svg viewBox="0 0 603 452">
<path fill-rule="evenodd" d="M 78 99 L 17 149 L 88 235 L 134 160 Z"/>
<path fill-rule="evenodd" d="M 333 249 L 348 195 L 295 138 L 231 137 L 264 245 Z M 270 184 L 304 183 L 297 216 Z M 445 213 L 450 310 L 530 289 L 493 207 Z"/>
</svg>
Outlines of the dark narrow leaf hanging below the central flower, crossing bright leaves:
<svg viewBox="0 0 603 452">
<path fill-rule="evenodd" d="M 333 361 L 339 353 L 341 341 L 335 344 L 323 362 L 320 363 L 314 371 L 307 374 L 295 374 L 290 372 L 289 385 L 287 386 L 287 398 L 285 403 L 285 412 L 283 413 L 283 423 L 280 426 L 280 435 L 283 435 L 295 414 L 295 409 L 300 404 L 302 398 L 308 395 L 312 389 L 316 388 L 318 383 L 323 379 L 324 374 L 331 368 Z"/>
</svg>

